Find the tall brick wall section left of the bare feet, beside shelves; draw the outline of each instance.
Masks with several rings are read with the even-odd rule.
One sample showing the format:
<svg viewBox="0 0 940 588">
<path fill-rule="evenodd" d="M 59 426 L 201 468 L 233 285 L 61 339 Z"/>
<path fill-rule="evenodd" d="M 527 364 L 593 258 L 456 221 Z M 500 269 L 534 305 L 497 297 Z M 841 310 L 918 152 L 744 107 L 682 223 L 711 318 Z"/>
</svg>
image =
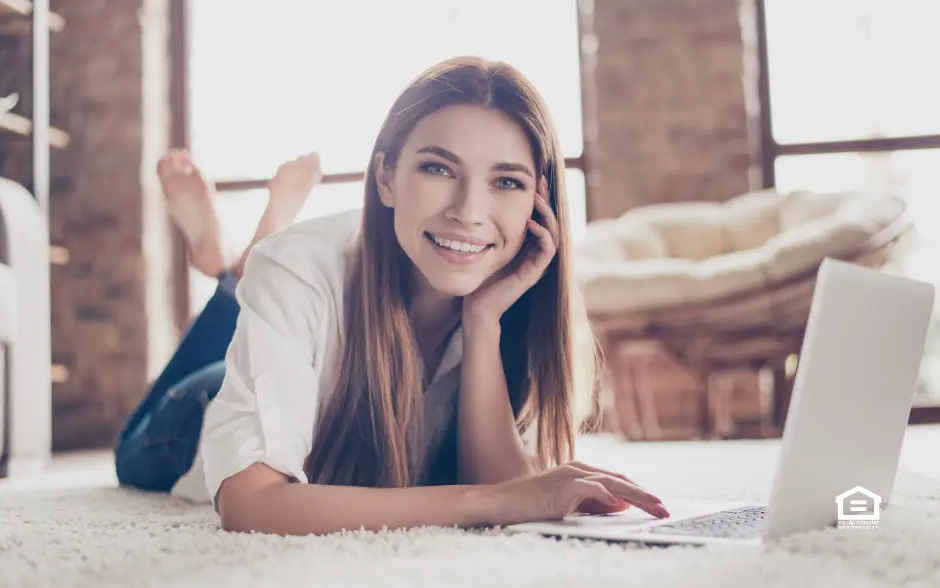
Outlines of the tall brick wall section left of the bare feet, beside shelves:
<svg viewBox="0 0 940 588">
<path fill-rule="evenodd" d="M 167 146 L 167 0 L 53 2 L 55 449 L 107 445 L 172 343 L 167 227 L 153 170 Z"/>
</svg>

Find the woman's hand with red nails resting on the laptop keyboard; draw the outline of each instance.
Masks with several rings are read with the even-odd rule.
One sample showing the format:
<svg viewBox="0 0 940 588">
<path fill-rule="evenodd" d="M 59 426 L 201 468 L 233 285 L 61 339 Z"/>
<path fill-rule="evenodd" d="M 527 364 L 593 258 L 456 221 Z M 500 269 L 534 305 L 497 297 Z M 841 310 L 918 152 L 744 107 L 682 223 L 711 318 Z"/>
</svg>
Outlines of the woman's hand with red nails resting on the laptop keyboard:
<svg viewBox="0 0 940 588">
<path fill-rule="evenodd" d="M 669 511 L 656 496 L 626 476 L 581 462 L 486 488 L 491 524 L 561 519 L 570 514 L 609 514 L 630 505 L 657 518 Z"/>
</svg>

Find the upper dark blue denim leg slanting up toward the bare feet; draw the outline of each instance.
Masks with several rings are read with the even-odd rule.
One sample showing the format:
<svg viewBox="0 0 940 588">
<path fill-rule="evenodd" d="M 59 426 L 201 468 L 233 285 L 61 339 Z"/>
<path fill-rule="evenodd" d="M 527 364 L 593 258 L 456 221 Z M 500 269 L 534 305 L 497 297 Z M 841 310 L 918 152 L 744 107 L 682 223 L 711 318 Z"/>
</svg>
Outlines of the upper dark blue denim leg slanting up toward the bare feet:
<svg viewBox="0 0 940 588">
<path fill-rule="evenodd" d="M 238 301 L 233 293 L 233 280 L 231 274 L 220 277 L 219 287 L 212 298 L 190 325 L 173 357 L 153 382 L 143 401 L 128 417 L 119 443 L 140 427 L 144 416 L 166 395 L 171 386 L 201 368 L 225 359 L 225 352 L 235 334 L 239 312 Z"/>
</svg>

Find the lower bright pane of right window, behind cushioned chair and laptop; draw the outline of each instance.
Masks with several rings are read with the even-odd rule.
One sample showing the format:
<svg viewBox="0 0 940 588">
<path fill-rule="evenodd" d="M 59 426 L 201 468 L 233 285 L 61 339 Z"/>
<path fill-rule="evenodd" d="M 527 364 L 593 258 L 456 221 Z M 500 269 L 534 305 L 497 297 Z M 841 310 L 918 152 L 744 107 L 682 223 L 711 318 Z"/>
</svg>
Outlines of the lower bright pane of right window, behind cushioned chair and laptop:
<svg viewBox="0 0 940 588">
<path fill-rule="evenodd" d="M 776 172 L 777 187 L 783 191 L 864 187 L 902 194 L 910 205 L 914 230 L 887 269 L 940 286 L 940 149 L 780 157 Z M 921 376 L 925 390 L 919 390 L 915 402 L 940 404 L 940 298 Z"/>
</svg>

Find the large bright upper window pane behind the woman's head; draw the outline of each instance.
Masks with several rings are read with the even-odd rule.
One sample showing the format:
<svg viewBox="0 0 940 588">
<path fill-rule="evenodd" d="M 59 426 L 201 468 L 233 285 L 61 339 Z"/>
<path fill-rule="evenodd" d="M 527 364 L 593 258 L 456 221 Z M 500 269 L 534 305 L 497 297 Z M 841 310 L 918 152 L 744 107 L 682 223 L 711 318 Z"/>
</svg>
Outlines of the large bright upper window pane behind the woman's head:
<svg viewBox="0 0 940 588">
<path fill-rule="evenodd" d="M 190 3 L 192 150 L 214 179 L 270 177 L 318 150 L 366 167 L 404 86 L 459 54 L 501 59 L 543 93 L 566 156 L 581 153 L 575 0 L 199 0 Z"/>
</svg>

